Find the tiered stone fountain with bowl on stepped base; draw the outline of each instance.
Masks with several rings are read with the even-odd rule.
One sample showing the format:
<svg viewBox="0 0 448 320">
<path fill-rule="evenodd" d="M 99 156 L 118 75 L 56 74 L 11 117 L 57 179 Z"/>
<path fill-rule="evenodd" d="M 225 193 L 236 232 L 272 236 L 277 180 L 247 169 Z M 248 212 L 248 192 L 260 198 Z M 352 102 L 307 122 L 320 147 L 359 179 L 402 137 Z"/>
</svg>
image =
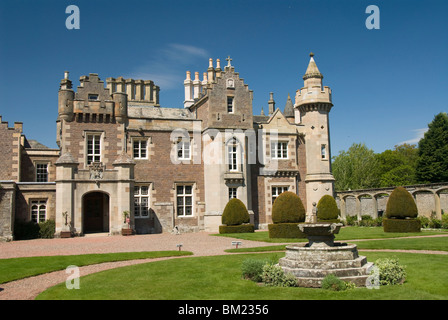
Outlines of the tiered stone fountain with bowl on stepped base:
<svg viewBox="0 0 448 320">
<path fill-rule="evenodd" d="M 328 274 L 358 287 L 366 285 L 373 263 L 358 255 L 355 244 L 334 242 L 341 223 L 304 223 L 298 227 L 309 242 L 287 246 L 286 256 L 280 259 L 279 265 L 285 272 L 294 274 L 300 287 L 320 288 Z"/>
</svg>

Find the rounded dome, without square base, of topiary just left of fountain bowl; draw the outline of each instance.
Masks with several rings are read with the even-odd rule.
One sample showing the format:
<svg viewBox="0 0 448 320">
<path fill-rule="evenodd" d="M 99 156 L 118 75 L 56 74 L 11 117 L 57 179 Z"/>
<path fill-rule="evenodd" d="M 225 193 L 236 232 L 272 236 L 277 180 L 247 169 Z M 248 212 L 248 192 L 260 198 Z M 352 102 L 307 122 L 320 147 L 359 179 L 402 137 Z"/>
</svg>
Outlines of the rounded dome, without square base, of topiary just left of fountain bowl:
<svg viewBox="0 0 448 320">
<path fill-rule="evenodd" d="M 281 193 L 272 205 L 272 222 L 304 222 L 305 208 L 299 196 L 291 191 Z"/>
</svg>

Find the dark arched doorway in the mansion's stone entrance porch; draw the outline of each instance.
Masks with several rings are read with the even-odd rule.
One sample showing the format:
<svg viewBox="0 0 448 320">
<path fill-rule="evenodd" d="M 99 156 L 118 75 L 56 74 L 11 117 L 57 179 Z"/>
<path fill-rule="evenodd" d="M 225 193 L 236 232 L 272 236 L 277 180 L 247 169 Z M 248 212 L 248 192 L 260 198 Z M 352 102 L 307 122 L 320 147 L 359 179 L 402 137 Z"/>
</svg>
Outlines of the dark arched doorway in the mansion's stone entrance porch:
<svg viewBox="0 0 448 320">
<path fill-rule="evenodd" d="M 84 233 L 109 232 L 109 196 L 91 192 L 82 200 Z"/>
</svg>

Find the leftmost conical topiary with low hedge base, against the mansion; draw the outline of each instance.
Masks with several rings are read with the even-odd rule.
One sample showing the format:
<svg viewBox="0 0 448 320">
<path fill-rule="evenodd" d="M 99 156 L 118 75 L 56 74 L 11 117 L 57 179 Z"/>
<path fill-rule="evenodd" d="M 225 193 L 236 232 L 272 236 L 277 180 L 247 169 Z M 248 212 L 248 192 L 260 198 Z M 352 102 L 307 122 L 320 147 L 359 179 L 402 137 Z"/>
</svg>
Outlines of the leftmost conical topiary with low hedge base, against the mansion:
<svg viewBox="0 0 448 320">
<path fill-rule="evenodd" d="M 219 233 L 254 232 L 249 212 L 244 203 L 236 198 L 230 199 L 222 213 L 222 224 Z"/>
</svg>

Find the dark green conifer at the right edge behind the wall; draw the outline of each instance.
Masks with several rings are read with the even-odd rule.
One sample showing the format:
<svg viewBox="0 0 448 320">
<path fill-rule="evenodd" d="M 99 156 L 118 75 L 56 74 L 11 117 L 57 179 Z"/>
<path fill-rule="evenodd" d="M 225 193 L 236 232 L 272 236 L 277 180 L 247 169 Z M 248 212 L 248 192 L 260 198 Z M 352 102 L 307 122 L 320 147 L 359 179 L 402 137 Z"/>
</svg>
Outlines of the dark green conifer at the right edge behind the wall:
<svg viewBox="0 0 448 320">
<path fill-rule="evenodd" d="M 448 115 L 441 112 L 419 143 L 416 177 L 422 183 L 448 181 Z"/>
</svg>

